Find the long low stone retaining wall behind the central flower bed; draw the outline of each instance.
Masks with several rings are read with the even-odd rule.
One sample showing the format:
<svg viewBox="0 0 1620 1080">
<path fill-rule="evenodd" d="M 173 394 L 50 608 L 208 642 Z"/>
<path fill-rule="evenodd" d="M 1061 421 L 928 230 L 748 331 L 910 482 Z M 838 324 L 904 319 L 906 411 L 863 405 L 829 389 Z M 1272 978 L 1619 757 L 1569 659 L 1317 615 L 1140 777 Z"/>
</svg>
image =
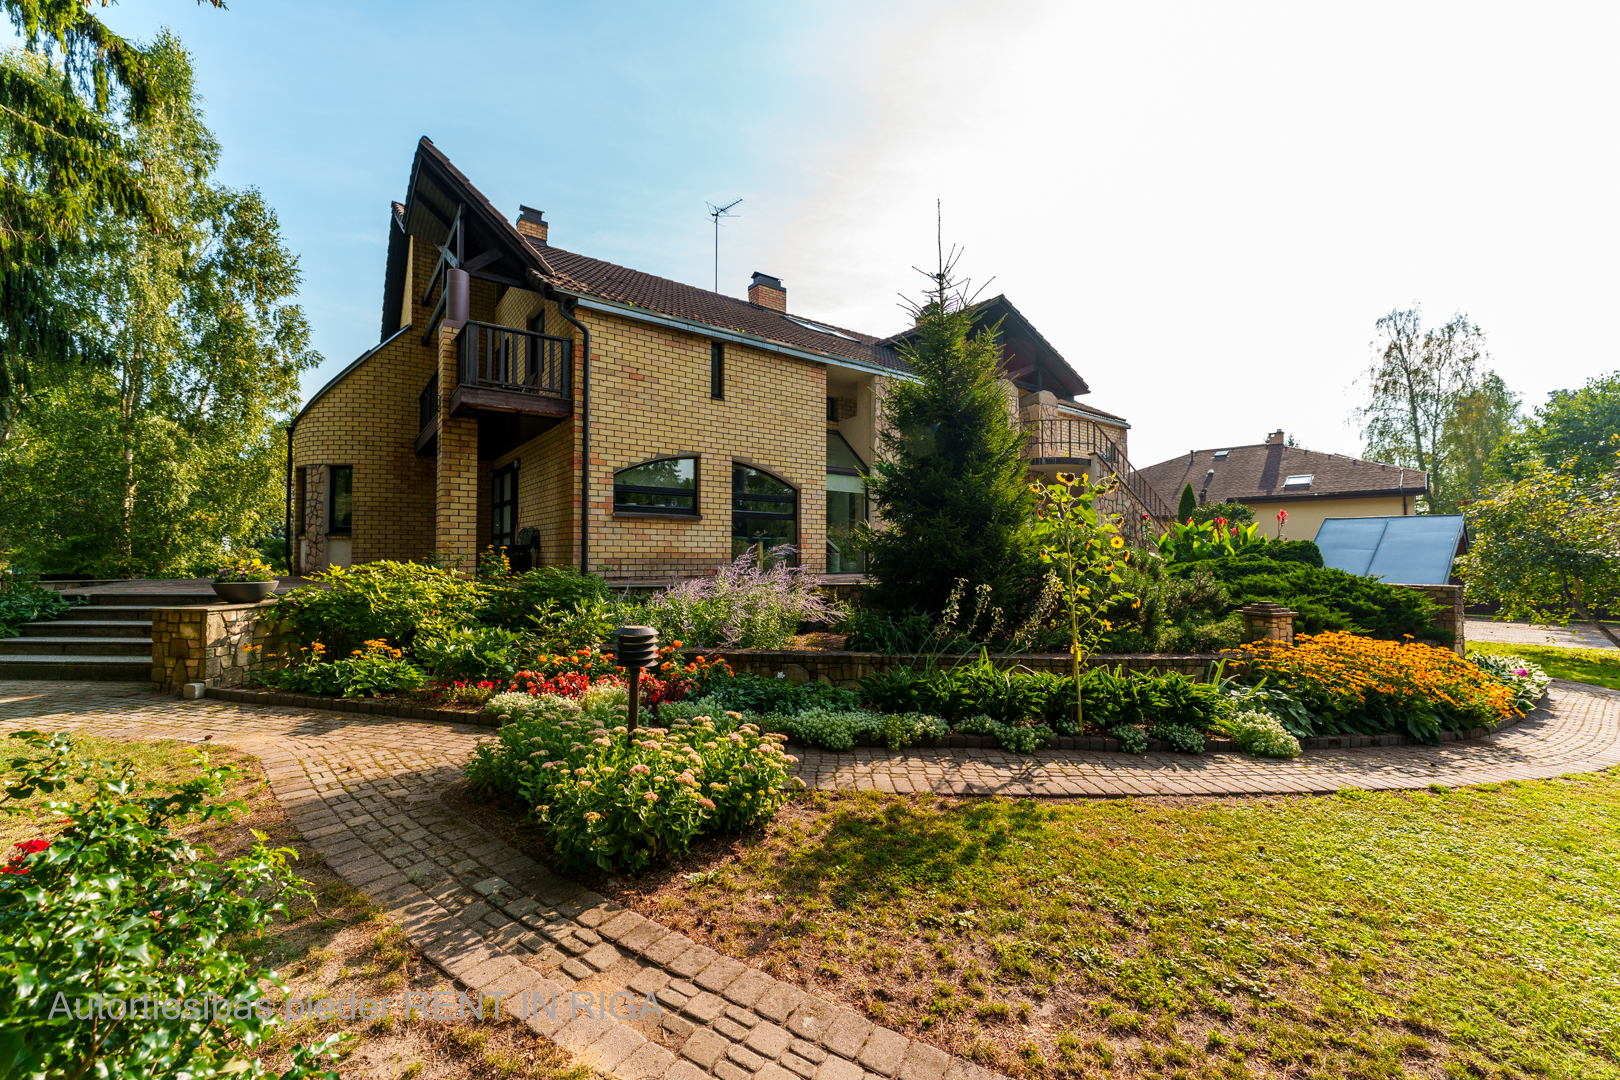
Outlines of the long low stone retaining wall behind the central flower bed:
<svg viewBox="0 0 1620 1080">
<path fill-rule="evenodd" d="M 684 649 L 687 656 L 711 656 L 731 664 L 731 669 L 742 674 L 776 678 L 781 675 L 791 683 L 826 682 L 834 687 L 854 687 L 867 675 L 885 672 L 891 667 L 910 664 L 922 669 L 930 661 L 889 656 L 888 653 L 839 653 L 833 649 Z M 1181 672 L 1189 678 L 1204 680 L 1210 667 L 1226 659 L 1228 674 L 1233 670 L 1233 653 L 1094 653 L 1085 657 L 1085 667 L 1124 667 L 1134 672 L 1158 670 Z M 956 667 L 957 664 L 974 664 L 978 654 L 940 657 L 932 661 L 936 667 Z M 1019 653 L 993 654 L 990 657 L 998 667 L 1014 664 L 1034 672 L 1056 672 L 1068 675 L 1071 661 L 1068 653 Z"/>
</svg>

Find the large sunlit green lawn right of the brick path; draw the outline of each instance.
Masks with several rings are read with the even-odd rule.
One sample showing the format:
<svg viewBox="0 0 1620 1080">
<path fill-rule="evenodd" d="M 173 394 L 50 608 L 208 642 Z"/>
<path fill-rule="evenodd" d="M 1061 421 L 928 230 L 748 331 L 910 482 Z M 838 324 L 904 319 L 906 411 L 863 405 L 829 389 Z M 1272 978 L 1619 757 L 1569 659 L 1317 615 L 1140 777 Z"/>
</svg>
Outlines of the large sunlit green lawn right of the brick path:
<svg viewBox="0 0 1620 1080">
<path fill-rule="evenodd" d="M 1202 803 L 810 795 L 612 886 L 1014 1075 L 1620 1075 L 1615 772 Z"/>
</svg>

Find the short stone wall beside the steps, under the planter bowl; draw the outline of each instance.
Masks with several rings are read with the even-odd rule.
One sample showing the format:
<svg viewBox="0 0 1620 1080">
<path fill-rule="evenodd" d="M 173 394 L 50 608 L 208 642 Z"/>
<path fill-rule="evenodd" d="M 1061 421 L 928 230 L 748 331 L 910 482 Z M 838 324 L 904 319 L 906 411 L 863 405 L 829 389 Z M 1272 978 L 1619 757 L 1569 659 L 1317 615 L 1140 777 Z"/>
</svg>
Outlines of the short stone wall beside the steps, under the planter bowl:
<svg viewBox="0 0 1620 1080">
<path fill-rule="evenodd" d="M 180 693 L 188 682 L 243 687 L 264 664 L 264 653 L 280 651 L 279 627 L 261 604 L 209 604 L 152 609 L 152 690 Z M 254 646 L 254 648 L 246 648 Z"/>
</svg>

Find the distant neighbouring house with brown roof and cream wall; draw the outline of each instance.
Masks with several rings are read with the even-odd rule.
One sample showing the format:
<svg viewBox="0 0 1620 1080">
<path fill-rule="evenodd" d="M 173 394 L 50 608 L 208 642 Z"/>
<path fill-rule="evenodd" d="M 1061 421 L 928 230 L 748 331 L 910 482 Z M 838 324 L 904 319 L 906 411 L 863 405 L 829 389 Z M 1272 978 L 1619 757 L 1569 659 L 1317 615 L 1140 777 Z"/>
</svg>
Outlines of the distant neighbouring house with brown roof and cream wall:
<svg viewBox="0 0 1620 1080">
<path fill-rule="evenodd" d="M 1286 539 L 1315 539 L 1327 518 L 1411 517 L 1418 495 L 1429 491 L 1429 478 L 1419 470 L 1285 442 L 1275 431 L 1260 444 L 1192 450 L 1149 465 L 1140 476 L 1171 507 L 1179 505 L 1187 484 L 1200 507 L 1241 502 L 1254 510 L 1267 536 L 1277 536 L 1277 513 L 1286 510 Z"/>
</svg>

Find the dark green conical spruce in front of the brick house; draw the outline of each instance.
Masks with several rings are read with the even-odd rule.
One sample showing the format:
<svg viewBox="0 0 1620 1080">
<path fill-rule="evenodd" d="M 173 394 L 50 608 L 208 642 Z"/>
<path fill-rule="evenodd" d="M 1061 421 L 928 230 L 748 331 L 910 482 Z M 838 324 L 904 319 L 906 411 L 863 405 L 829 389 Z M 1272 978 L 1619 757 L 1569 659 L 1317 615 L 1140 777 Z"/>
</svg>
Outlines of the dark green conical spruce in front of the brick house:
<svg viewBox="0 0 1620 1080">
<path fill-rule="evenodd" d="M 1038 591 L 1024 437 L 1000 376 L 998 327 L 974 329 L 956 249 L 940 251 L 917 322 L 899 347 L 915 381 L 893 379 L 883 402 L 880 461 L 867 494 L 880 528 L 865 533 L 875 601 L 938 612 L 959 580 L 988 585 L 1009 617 Z"/>
</svg>

